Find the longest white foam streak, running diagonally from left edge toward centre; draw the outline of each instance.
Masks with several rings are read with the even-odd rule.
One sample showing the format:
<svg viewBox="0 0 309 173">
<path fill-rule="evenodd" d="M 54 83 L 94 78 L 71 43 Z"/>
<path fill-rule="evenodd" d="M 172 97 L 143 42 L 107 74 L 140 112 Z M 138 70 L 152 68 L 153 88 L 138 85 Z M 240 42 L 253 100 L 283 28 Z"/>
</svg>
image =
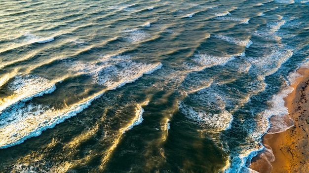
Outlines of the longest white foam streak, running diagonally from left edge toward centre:
<svg viewBox="0 0 309 173">
<path fill-rule="evenodd" d="M 123 63 L 122 65 L 128 65 L 130 63 Z M 98 84 L 105 85 L 107 90 L 114 90 L 119 88 L 126 83 L 134 82 L 138 78 L 142 77 L 143 74 L 150 74 L 157 69 L 162 67 L 161 63 L 158 64 L 142 64 L 135 63 L 137 67 L 123 67 L 124 69 L 118 69 L 110 76 L 102 76 L 101 78 L 95 79 Z M 91 73 L 97 71 L 92 69 L 91 75 L 96 76 L 98 73 Z M 85 70 L 87 71 L 87 70 Z M 102 69 L 101 69 L 102 71 Z M 99 75 L 99 74 L 98 74 Z M 104 75 L 104 74 L 102 74 Z M 123 77 L 119 80 L 115 78 L 108 78 L 113 76 Z M 11 106 L 9 109 L 5 109 L 0 114 L 0 148 L 7 148 L 22 143 L 28 138 L 37 137 L 42 131 L 55 127 L 55 125 L 62 123 L 64 120 L 75 116 L 83 109 L 88 107 L 91 102 L 101 97 L 106 90 L 102 90 L 88 98 L 83 99 L 77 104 L 69 105 L 64 109 L 54 109 L 48 105 L 41 104 L 26 104 L 19 103 L 16 106 Z"/>
</svg>

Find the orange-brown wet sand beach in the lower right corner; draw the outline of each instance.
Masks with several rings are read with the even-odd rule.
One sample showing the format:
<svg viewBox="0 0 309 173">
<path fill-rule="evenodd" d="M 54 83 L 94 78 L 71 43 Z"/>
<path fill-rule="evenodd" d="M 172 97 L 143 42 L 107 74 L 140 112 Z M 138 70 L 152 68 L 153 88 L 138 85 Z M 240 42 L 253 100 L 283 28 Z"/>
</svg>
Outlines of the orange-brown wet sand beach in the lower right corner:
<svg viewBox="0 0 309 173">
<path fill-rule="evenodd" d="M 309 68 L 301 67 L 296 73 L 301 76 L 290 85 L 294 90 L 283 98 L 289 114 L 282 116 L 286 122 L 292 118 L 294 126 L 263 136 L 266 149 L 259 152 L 250 165 L 250 169 L 259 173 L 309 172 L 309 124 L 306 122 L 309 119 Z"/>
</svg>

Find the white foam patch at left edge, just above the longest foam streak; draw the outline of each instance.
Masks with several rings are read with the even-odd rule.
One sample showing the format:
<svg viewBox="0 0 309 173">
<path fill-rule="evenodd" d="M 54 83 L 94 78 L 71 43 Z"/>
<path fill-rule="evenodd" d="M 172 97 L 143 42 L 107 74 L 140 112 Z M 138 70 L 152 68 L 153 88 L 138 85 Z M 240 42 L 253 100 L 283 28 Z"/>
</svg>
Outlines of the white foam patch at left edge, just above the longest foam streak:
<svg viewBox="0 0 309 173">
<path fill-rule="evenodd" d="M 14 77 L 8 84 L 8 90 L 13 94 L 0 100 L 0 112 L 19 101 L 26 102 L 34 97 L 52 93 L 56 86 L 45 78 L 28 74 Z"/>
</svg>

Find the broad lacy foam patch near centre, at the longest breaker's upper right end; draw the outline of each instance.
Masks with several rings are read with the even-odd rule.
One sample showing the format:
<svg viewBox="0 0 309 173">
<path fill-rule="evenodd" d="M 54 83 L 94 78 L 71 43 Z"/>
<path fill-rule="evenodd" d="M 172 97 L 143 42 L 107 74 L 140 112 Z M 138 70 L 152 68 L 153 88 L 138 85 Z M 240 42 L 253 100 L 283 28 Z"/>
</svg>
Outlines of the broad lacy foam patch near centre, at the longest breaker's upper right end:
<svg viewBox="0 0 309 173">
<path fill-rule="evenodd" d="M 138 79 L 143 74 L 150 74 L 162 67 L 161 63 L 137 63 L 132 61 L 130 56 L 125 55 L 106 55 L 93 63 L 70 61 L 67 63 L 73 73 L 91 75 L 95 83 L 109 90 L 128 83 L 132 78 Z M 141 71 L 145 72 L 141 73 Z"/>
</svg>

